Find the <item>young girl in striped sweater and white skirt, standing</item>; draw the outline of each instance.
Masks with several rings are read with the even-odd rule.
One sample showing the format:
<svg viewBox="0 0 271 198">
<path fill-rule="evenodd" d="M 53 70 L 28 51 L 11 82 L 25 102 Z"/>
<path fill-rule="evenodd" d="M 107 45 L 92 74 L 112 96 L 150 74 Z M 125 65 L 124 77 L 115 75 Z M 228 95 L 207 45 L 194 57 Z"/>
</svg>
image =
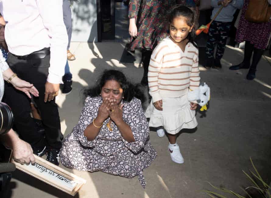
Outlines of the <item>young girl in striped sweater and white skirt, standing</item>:
<svg viewBox="0 0 271 198">
<path fill-rule="evenodd" d="M 197 29 L 196 12 L 184 5 L 176 5 L 169 18 L 170 36 L 154 49 L 148 72 L 152 102 L 146 112 L 149 126 L 157 130 L 159 137 L 168 133 L 168 150 L 172 161 L 182 164 L 176 134 L 181 129 L 197 126 L 195 101 L 188 101 L 187 93 L 199 88 L 198 48 L 194 42 Z M 150 114 L 148 116 L 148 114 Z"/>
</svg>

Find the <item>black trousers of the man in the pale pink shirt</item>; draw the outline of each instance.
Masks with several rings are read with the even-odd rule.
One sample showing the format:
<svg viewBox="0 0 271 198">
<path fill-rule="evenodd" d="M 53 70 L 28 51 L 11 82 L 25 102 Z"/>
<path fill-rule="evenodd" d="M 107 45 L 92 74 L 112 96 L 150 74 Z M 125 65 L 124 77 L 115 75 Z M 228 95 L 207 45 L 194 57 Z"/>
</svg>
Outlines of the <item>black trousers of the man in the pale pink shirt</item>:
<svg viewBox="0 0 271 198">
<path fill-rule="evenodd" d="M 39 97 L 33 97 L 40 110 L 42 122 L 45 129 L 44 136 L 37 133 L 34 120 L 30 117 L 30 99 L 16 90 L 11 84 L 5 82 L 4 101 L 10 106 L 14 114 L 14 126 L 20 137 L 31 144 L 34 148 L 60 149 L 62 147 L 63 135 L 60 129 L 58 106 L 55 99 L 44 102 L 45 83 L 50 65 L 50 55 L 41 59 L 19 60 L 9 54 L 7 59 L 10 69 L 19 78 L 32 83 L 39 91 Z"/>
</svg>

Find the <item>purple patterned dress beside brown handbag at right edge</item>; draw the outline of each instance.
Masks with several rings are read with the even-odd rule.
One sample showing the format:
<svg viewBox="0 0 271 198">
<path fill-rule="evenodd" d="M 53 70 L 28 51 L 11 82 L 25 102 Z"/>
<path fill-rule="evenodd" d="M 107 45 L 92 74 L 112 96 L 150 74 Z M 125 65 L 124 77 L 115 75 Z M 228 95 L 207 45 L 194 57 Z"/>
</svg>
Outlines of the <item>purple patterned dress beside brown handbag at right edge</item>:
<svg viewBox="0 0 271 198">
<path fill-rule="evenodd" d="M 271 32 L 271 20 L 269 20 L 267 23 L 248 22 L 245 19 L 245 12 L 248 8 L 248 2 L 249 0 L 245 0 L 244 2 L 235 41 L 237 43 L 250 41 L 251 44 L 254 44 L 255 48 L 266 49 Z"/>
</svg>

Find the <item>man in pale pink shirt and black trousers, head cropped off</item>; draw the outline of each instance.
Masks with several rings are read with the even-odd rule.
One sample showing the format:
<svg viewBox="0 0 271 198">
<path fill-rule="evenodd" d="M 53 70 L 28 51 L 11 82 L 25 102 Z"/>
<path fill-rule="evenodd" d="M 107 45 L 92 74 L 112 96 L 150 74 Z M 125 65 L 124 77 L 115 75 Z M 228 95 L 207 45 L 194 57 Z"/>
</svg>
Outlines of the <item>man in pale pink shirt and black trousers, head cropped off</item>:
<svg viewBox="0 0 271 198">
<path fill-rule="evenodd" d="M 30 118 L 28 98 L 9 83 L 5 84 L 5 102 L 14 113 L 20 137 L 30 143 L 34 154 L 46 153 L 47 160 L 58 165 L 63 135 L 55 96 L 64 75 L 68 43 L 62 0 L 1 0 L 0 12 L 7 22 L 7 62 L 13 72 L 39 91 L 34 101 L 41 113 L 45 137 L 37 133 Z"/>
</svg>

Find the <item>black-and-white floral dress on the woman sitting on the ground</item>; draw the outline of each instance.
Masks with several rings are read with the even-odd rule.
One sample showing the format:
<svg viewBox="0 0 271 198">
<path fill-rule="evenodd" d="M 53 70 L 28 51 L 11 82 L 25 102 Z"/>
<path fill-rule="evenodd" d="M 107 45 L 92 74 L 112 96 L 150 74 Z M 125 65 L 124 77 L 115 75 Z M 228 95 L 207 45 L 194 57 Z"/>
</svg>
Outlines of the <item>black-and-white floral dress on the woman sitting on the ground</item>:
<svg viewBox="0 0 271 198">
<path fill-rule="evenodd" d="M 110 131 L 107 118 L 93 141 L 88 141 L 84 130 L 97 117 L 101 97 L 87 97 L 78 124 L 65 137 L 60 151 L 62 164 L 81 171 L 102 171 L 111 175 L 132 178 L 138 175 L 143 188 L 146 181 L 143 171 L 150 166 L 157 153 L 149 141 L 149 125 L 139 99 L 123 102 L 123 120 L 131 127 L 135 142 L 123 139 L 112 122 Z"/>
</svg>

